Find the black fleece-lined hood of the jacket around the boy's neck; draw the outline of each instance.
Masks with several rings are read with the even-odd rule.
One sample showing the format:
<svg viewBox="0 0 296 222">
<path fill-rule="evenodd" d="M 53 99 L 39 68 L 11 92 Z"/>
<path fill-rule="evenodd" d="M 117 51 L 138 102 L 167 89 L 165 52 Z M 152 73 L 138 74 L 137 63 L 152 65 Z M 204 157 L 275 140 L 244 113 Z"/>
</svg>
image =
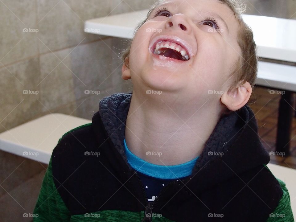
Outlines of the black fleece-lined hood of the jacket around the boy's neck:
<svg viewBox="0 0 296 222">
<path fill-rule="evenodd" d="M 131 98 L 132 92 L 116 93 L 103 98 L 100 101 L 98 113 L 92 119 L 95 124 L 99 121 L 97 118 L 101 118 L 108 137 L 120 154 L 120 158 L 124 160 L 128 171 L 134 171 L 134 169 L 127 162 L 123 139 Z M 223 155 L 211 155 L 211 152 Z M 223 180 L 267 164 L 269 160 L 269 154 L 258 136 L 254 113 L 248 105 L 245 105 L 220 118 L 193 167 L 187 187 L 190 190 L 201 191 Z M 208 176 L 208 172 L 211 172 L 211 177 Z M 201 179 L 203 183 L 198 183 Z"/>
</svg>

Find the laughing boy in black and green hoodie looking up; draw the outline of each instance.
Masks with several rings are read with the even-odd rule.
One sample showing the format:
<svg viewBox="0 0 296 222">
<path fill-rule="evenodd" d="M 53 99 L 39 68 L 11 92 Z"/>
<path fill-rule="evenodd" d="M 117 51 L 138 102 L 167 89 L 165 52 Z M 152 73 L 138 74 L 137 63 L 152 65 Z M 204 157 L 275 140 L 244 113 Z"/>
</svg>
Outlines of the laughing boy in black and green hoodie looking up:
<svg viewBox="0 0 296 222">
<path fill-rule="evenodd" d="M 252 31 L 231 0 L 161 1 L 123 55 L 132 93 L 55 147 L 34 221 L 294 221 L 246 105 Z"/>
</svg>

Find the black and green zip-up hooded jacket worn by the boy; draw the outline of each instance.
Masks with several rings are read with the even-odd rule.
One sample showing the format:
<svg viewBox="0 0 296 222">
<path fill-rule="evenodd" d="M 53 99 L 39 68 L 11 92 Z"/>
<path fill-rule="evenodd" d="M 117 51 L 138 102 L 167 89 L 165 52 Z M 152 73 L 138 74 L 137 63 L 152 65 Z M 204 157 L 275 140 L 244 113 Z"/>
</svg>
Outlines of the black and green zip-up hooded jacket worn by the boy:
<svg viewBox="0 0 296 222">
<path fill-rule="evenodd" d="M 269 154 L 248 105 L 220 118 L 190 176 L 147 202 L 124 152 L 131 97 L 103 98 L 92 123 L 60 138 L 34 221 L 294 221 L 285 183 L 266 166 Z"/>
</svg>

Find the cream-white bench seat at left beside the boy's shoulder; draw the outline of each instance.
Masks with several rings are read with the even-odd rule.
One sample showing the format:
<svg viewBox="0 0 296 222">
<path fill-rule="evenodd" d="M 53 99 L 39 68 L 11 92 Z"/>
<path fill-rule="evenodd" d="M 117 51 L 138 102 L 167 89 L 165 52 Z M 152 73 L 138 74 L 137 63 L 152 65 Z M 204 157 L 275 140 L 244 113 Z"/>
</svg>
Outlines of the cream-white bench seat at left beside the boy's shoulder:
<svg viewBox="0 0 296 222">
<path fill-rule="evenodd" d="M 90 120 L 47 114 L 0 134 L 0 150 L 48 164 L 52 150 L 69 130 Z"/>
</svg>

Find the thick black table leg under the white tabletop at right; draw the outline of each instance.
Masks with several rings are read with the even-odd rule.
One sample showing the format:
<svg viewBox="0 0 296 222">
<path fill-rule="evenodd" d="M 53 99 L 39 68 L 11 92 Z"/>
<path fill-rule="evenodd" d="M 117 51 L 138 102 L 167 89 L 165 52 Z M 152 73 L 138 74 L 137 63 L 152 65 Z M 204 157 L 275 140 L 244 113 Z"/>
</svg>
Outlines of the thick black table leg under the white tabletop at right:
<svg viewBox="0 0 296 222">
<path fill-rule="evenodd" d="M 293 119 L 293 92 L 285 91 L 282 94 L 278 109 L 278 131 L 276 140 L 276 151 L 290 155 L 290 135 Z"/>
</svg>

